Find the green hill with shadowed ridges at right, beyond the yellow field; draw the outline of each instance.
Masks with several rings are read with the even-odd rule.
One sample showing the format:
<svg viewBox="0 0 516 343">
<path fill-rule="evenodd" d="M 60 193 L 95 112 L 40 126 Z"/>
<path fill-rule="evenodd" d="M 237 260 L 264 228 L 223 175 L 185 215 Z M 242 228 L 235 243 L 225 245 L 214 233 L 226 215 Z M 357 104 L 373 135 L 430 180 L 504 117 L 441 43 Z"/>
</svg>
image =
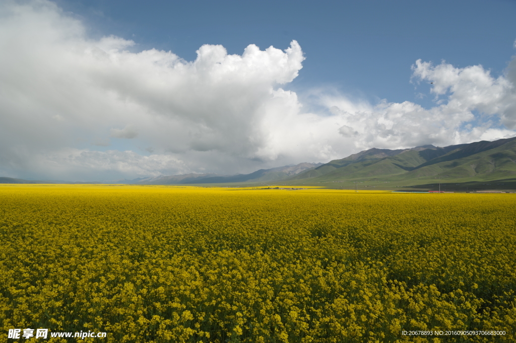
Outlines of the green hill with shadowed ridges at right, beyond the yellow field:
<svg viewBox="0 0 516 343">
<path fill-rule="evenodd" d="M 486 181 L 516 177 L 516 137 L 493 142 L 433 145 L 405 150 L 369 149 L 289 178 L 292 182 Z"/>
</svg>

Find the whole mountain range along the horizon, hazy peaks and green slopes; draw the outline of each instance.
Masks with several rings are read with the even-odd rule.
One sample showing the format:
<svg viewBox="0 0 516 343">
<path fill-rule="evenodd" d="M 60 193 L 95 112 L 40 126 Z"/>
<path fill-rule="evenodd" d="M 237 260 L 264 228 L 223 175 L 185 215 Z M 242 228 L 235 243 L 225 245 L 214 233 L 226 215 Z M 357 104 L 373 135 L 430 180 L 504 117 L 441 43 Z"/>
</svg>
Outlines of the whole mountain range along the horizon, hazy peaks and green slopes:
<svg viewBox="0 0 516 343">
<path fill-rule="evenodd" d="M 444 148 L 424 145 L 411 149 L 369 149 L 326 164 L 301 163 L 250 174 L 220 176 L 216 174 L 183 174 L 118 180 L 109 183 L 232 184 L 289 182 L 326 183 L 336 181 L 432 183 L 437 178 L 457 182 L 490 180 L 516 181 L 516 137 L 496 141 L 449 145 Z M 69 183 L 63 181 L 26 181 L 0 177 L 0 183 Z"/>
</svg>

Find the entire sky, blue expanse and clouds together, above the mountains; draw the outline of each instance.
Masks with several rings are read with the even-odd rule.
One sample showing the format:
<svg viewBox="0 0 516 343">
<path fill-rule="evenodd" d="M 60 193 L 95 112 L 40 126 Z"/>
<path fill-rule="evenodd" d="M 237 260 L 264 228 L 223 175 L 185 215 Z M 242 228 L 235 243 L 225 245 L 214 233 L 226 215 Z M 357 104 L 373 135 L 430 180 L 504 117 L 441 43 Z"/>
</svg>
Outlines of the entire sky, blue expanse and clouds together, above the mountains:
<svg viewBox="0 0 516 343">
<path fill-rule="evenodd" d="M 516 135 L 514 1 L 0 5 L 1 176 L 247 173 Z"/>
</svg>

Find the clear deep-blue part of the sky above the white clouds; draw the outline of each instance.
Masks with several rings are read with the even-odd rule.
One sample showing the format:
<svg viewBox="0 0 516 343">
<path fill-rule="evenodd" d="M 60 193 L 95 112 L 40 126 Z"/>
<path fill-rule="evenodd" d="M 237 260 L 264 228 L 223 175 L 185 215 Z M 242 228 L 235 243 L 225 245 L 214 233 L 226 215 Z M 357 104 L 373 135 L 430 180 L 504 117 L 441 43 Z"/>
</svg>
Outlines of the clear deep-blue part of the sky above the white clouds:
<svg viewBox="0 0 516 343">
<path fill-rule="evenodd" d="M 186 60 L 203 44 L 241 54 L 297 40 L 307 59 L 289 88 L 335 87 L 354 96 L 418 101 L 410 66 L 421 58 L 499 75 L 514 55 L 516 2 L 494 1 L 59 1 L 92 36 L 132 39 L 135 49 Z"/>
</svg>

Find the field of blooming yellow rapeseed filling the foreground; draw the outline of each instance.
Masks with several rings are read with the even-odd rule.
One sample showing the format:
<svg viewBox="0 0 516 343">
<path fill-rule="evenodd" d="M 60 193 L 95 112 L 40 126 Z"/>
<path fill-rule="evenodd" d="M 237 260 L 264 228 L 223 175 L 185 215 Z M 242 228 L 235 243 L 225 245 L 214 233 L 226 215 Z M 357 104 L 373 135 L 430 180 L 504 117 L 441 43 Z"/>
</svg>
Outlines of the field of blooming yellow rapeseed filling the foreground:
<svg viewBox="0 0 516 343">
<path fill-rule="evenodd" d="M 0 242 L 2 342 L 516 341 L 516 194 L 3 185 Z"/>
</svg>

